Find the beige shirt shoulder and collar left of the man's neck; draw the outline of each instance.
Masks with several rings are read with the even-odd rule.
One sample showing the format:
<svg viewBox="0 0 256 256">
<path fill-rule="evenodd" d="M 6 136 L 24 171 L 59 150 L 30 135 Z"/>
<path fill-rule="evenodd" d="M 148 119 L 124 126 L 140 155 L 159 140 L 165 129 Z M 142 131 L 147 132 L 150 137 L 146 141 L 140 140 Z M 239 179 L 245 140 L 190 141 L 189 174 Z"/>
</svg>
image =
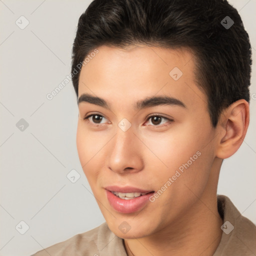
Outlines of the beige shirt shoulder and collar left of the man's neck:
<svg viewBox="0 0 256 256">
<path fill-rule="evenodd" d="M 109 241 L 111 243 L 109 244 Z M 95 227 L 87 232 L 79 233 L 71 238 L 51 245 L 40 251 L 37 251 L 31 256 L 69 256 L 69 255 L 100 255 L 101 250 L 119 249 L 122 254 L 124 253 L 122 239 L 117 237 L 108 228 L 106 222 L 98 227 Z M 122 255 L 120 254 L 120 255 Z M 126 254 L 123 254 L 126 255 Z"/>
</svg>

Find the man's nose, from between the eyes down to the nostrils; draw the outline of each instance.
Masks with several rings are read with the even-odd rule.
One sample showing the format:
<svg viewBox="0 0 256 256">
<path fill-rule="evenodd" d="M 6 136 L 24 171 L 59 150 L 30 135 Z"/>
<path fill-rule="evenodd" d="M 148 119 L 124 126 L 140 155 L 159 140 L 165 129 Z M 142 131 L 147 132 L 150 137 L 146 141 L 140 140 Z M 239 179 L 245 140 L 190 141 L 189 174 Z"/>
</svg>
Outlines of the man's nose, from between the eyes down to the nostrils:
<svg viewBox="0 0 256 256">
<path fill-rule="evenodd" d="M 133 173 L 143 169 L 141 141 L 133 133 L 131 127 L 117 131 L 109 144 L 107 167 L 117 173 Z"/>
</svg>

